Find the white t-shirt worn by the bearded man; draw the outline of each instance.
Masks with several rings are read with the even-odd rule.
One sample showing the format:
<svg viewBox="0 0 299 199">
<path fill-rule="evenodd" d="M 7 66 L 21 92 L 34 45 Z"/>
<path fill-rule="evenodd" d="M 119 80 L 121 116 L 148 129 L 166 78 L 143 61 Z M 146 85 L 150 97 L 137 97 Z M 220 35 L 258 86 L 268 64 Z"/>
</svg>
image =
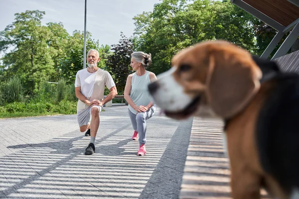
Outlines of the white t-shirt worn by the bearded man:
<svg viewBox="0 0 299 199">
<path fill-rule="evenodd" d="M 98 73 L 97 80 L 95 80 L 96 73 Z M 97 100 L 103 99 L 105 86 L 108 89 L 111 89 L 115 86 L 115 83 L 111 75 L 107 71 L 104 71 L 102 69 L 98 69 L 94 73 L 89 73 L 87 71 L 87 68 L 77 72 L 75 79 L 75 87 L 81 87 L 81 93 L 87 99 L 90 99 L 92 97 L 95 83 L 98 84 L 100 88 L 99 91 L 97 91 L 97 96 L 100 96 L 101 99 Z"/>
</svg>

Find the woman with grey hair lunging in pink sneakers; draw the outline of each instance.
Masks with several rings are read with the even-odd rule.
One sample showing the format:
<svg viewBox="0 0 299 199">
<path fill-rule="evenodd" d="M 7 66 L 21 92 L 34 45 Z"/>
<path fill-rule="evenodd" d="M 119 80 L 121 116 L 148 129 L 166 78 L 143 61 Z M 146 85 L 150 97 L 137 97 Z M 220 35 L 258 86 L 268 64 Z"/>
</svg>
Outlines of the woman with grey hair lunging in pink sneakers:
<svg viewBox="0 0 299 199">
<path fill-rule="evenodd" d="M 132 139 L 139 138 L 139 150 L 137 155 L 146 155 L 146 120 L 153 116 L 156 106 L 150 101 L 148 84 L 155 81 L 155 74 L 147 71 L 151 64 L 150 53 L 134 52 L 131 54 L 131 64 L 135 73 L 127 78 L 124 96 L 129 103 L 129 116 L 133 125 L 134 134 Z"/>
</svg>

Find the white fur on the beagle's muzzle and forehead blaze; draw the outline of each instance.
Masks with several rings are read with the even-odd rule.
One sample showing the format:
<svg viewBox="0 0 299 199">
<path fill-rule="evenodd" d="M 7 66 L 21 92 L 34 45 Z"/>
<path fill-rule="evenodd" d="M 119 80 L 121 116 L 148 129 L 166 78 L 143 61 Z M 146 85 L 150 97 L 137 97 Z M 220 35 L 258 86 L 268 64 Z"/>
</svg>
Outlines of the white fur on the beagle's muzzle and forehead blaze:
<svg viewBox="0 0 299 199">
<path fill-rule="evenodd" d="M 172 74 L 176 67 L 161 73 L 157 76 L 159 88 L 153 94 L 153 99 L 159 107 L 167 111 L 180 111 L 183 110 L 192 99 L 187 96 L 183 87 L 178 84 L 173 78 Z"/>
</svg>

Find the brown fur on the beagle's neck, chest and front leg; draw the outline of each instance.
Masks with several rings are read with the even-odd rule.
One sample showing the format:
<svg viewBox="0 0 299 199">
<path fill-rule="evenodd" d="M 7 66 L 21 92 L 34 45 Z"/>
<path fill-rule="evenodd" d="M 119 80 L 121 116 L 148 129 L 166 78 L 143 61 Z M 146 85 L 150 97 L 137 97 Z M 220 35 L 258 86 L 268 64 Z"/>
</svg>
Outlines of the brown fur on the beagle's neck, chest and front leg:
<svg viewBox="0 0 299 199">
<path fill-rule="evenodd" d="M 273 83 L 262 85 L 248 106 L 227 124 L 226 136 L 234 199 L 258 199 L 262 183 L 270 193 L 287 199 L 278 183 L 262 169 L 256 143 L 256 122 Z"/>
</svg>

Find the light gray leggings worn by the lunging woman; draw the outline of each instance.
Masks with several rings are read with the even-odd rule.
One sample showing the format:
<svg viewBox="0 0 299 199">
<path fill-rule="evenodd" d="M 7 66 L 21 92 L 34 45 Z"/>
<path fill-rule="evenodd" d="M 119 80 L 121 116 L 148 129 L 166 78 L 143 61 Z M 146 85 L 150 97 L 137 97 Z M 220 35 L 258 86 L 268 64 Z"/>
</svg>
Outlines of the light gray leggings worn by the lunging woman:
<svg viewBox="0 0 299 199">
<path fill-rule="evenodd" d="M 150 117 L 153 116 L 155 112 L 156 106 L 153 105 L 149 108 L 147 112 L 138 112 L 137 114 L 134 114 L 131 112 L 130 109 L 128 109 L 129 116 L 132 122 L 132 126 L 134 130 L 138 132 L 139 137 L 139 145 L 145 144 L 147 142 L 147 124 L 146 120 L 148 120 Z"/>
</svg>

